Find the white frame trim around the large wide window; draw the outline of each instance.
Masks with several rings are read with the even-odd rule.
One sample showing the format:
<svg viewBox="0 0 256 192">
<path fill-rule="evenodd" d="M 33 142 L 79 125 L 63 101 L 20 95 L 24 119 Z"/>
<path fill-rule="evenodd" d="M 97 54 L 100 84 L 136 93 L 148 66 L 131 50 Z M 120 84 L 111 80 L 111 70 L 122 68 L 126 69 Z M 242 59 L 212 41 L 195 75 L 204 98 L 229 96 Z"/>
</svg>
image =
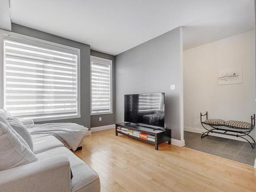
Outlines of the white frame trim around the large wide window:
<svg viewBox="0 0 256 192">
<path fill-rule="evenodd" d="M 63 49 L 65 50 L 70 50 L 73 51 L 77 54 L 77 111 L 76 114 L 49 114 L 49 115 L 44 115 L 41 117 L 24 117 L 24 118 L 19 118 L 19 119 L 33 119 L 35 122 L 38 121 L 50 121 L 50 120 L 60 120 L 60 119 L 71 119 L 71 118 L 80 118 L 80 49 L 74 48 L 74 47 L 69 47 L 66 45 L 61 45 L 57 44 L 55 42 L 47 41 L 47 40 L 42 40 L 26 35 L 20 35 L 17 33 L 13 33 L 10 31 L 5 31 L 5 30 L 0 30 L 0 58 L 2 57 L 3 59 L 0 59 L 0 69 L 2 72 L 0 72 L 0 75 L 2 75 L 2 78 L 0 78 L 0 109 L 5 109 L 5 47 L 4 47 L 4 40 L 12 40 L 12 38 L 19 38 L 21 39 L 21 42 L 29 42 L 30 45 L 32 46 L 38 46 L 38 44 L 45 44 L 44 48 L 51 48 L 54 47 L 55 50 L 57 51 L 62 51 Z"/>
</svg>

